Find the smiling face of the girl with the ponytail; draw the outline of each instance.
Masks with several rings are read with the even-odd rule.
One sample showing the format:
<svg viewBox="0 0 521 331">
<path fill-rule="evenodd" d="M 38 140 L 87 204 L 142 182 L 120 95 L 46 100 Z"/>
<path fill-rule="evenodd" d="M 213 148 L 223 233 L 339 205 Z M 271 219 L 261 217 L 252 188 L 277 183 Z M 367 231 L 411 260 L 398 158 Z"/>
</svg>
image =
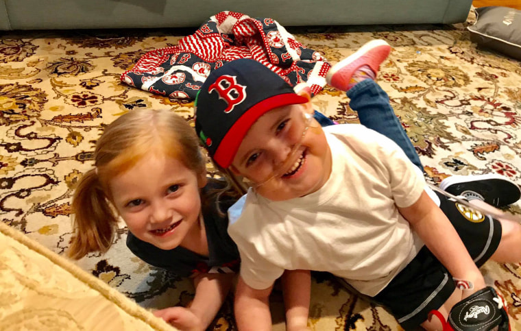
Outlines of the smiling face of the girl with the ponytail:
<svg viewBox="0 0 521 331">
<path fill-rule="evenodd" d="M 114 206 L 128 230 L 160 249 L 186 243 L 192 247 L 202 238 L 199 188 L 204 185 L 204 175 L 177 158 L 154 152 L 109 182 Z"/>
</svg>

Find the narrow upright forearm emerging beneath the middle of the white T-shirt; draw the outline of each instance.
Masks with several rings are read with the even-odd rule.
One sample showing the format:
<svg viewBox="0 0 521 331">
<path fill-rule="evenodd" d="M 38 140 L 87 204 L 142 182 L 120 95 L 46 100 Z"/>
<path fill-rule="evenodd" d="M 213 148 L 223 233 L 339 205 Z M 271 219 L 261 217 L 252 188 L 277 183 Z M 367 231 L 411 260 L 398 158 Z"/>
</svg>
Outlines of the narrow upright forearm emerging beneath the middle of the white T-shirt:
<svg viewBox="0 0 521 331">
<path fill-rule="evenodd" d="M 286 308 L 286 330 L 307 330 L 311 297 L 310 271 L 284 271 L 282 274 L 282 292 Z"/>
</svg>

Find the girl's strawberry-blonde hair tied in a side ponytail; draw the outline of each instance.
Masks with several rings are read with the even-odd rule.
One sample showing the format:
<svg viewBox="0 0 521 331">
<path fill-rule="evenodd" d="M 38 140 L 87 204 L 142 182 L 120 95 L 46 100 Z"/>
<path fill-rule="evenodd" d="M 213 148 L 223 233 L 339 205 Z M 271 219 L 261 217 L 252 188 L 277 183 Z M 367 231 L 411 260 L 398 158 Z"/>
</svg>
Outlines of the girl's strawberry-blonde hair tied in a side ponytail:
<svg viewBox="0 0 521 331">
<path fill-rule="evenodd" d="M 206 174 L 206 158 L 195 130 L 170 110 L 132 110 L 110 123 L 97 140 L 94 169 L 77 182 L 72 208 L 73 238 L 68 255 L 106 252 L 118 228 L 109 180 L 130 169 L 151 147 L 180 160 L 197 175 Z"/>
</svg>

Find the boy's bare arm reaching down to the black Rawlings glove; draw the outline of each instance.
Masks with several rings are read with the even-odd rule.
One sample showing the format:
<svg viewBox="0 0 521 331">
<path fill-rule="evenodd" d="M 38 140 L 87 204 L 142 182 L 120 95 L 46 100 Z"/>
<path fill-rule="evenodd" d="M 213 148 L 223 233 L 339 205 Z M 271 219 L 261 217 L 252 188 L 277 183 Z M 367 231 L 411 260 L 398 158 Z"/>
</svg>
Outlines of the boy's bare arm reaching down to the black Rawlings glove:
<svg viewBox="0 0 521 331">
<path fill-rule="evenodd" d="M 468 254 L 452 223 L 425 191 L 412 206 L 398 210 L 452 277 L 470 280 L 474 283 L 474 291 L 485 287 L 483 275 Z M 472 292 L 465 291 L 465 295 Z"/>
</svg>

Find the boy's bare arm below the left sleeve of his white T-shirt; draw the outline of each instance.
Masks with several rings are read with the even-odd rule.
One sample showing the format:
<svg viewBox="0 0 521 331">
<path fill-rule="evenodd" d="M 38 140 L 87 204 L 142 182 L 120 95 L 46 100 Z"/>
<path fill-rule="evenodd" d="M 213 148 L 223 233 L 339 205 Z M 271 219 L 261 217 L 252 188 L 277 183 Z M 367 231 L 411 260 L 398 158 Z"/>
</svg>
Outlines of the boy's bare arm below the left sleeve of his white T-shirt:
<svg viewBox="0 0 521 331">
<path fill-rule="evenodd" d="M 234 302 L 235 321 L 239 330 L 271 330 L 271 312 L 269 311 L 271 289 L 273 289 L 273 284 L 265 290 L 252 289 L 239 276 Z"/>
</svg>

